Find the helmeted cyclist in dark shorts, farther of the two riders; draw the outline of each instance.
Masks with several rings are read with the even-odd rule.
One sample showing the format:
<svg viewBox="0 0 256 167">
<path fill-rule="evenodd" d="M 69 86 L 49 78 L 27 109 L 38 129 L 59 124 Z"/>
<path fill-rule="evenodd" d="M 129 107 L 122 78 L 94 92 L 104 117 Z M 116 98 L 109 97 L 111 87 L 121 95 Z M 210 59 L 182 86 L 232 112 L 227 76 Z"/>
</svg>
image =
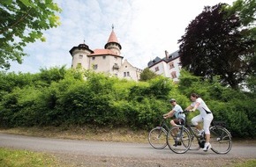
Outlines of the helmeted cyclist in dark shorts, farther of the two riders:
<svg viewBox="0 0 256 167">
<path fill-rule="evenodd" d="M 177 105 L 176 99 L 174 98 L 170 98 L 169 103 L 172 105 L 172 109 L 169 111 L 169 113 L 163 114 L 163 118 L 167 119 L 175 116 L 175 119 L 169 121 L 171 126 L 176 127 L 177 125 L 184 125 L 185 115 L 183 113 L 183 109 L 181 108 L 181 106 Z M 181 145 L 181 142 L 178 142 L 178 139 L 175 142 L 174 146 L 177 145 Z"/>
</svg>

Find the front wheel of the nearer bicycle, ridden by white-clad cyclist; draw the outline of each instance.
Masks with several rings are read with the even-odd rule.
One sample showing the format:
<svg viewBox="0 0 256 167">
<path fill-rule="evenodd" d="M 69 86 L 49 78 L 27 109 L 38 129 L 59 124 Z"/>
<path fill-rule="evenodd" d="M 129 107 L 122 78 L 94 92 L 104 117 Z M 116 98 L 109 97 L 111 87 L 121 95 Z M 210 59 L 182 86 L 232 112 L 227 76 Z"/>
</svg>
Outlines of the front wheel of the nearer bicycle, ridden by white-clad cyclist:
<svg viewBox="0 0 256 167">
<path fill-rule="evenodd" d="M 191 146 L 190 133 L 183 126 L 172 127 L 167 134 L 169 149 L 177 154 L 184 154 Z"/>
</svg>

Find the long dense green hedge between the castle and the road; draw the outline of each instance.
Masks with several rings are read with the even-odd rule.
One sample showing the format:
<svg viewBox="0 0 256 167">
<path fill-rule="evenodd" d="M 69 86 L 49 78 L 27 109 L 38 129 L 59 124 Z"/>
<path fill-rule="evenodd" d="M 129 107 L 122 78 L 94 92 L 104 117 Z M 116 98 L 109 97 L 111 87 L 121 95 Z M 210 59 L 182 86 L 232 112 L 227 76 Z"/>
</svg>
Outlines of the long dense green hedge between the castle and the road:
<svg viewBox="0 0 256 167">
<path fill-rule="evenodd" d="M 202 81 L 183 70 L 180 83 L 157 76 L 147 82 L 120 80 L 92 71 L 53 68 L 38 74 L 0 73 L 1 127 L 85 126 L 150 129 L 171 109 L 199 93 L 233 136 L 256 134 L 255 92 L 235 91 L 218 77 Z M 191 114 L 189 119 L 192 119 Z"/>
</svg>

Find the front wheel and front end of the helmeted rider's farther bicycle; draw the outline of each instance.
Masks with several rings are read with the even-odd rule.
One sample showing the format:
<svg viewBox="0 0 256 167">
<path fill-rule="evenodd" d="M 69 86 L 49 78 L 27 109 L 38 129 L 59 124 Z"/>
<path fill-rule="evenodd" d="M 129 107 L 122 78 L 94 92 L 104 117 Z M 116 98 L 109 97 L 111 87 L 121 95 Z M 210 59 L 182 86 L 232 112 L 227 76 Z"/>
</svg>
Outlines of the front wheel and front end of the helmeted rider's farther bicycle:
<svg viewBox="0 0 256 167">
<path fill-rule="evenodd" d="M 167 133 L 169 132 L 169 123 L 162 118 L 158 127 L 154 127 L 148 133 L 148 142 L 154 149 L 164 149 L 167 146 Z"/>
</svg>

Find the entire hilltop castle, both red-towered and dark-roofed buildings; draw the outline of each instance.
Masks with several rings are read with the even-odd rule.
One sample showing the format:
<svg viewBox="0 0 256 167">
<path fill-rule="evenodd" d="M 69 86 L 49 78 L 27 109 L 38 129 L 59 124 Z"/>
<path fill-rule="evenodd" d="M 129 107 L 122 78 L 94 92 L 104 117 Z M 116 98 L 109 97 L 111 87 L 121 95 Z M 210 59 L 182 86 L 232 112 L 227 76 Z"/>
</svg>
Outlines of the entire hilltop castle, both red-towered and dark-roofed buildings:
<svg viewBox="0 0 256 167">
<path fill-rule="evenodd" d="M 131 63 L 123 59 L 121 55 L 122 46 L 117 40 L 114 26 L 109 35 L 109 40 L 104 48 L 91 50 L 85 43 L 78 47 L 72 47 L 72 69 L 91 69 L 95 72 L 103 72 L 118 78 L 139 81 L 142 69 L 133 67 Z M 180 76 L 180 59 L 178 51 L 169 54 L 165 51 L 165 57 L 155 57 L 153 61 L 147 63 L 147 68 L 157 75 L 171 78 L 178 82 Z"/>
</svg>

